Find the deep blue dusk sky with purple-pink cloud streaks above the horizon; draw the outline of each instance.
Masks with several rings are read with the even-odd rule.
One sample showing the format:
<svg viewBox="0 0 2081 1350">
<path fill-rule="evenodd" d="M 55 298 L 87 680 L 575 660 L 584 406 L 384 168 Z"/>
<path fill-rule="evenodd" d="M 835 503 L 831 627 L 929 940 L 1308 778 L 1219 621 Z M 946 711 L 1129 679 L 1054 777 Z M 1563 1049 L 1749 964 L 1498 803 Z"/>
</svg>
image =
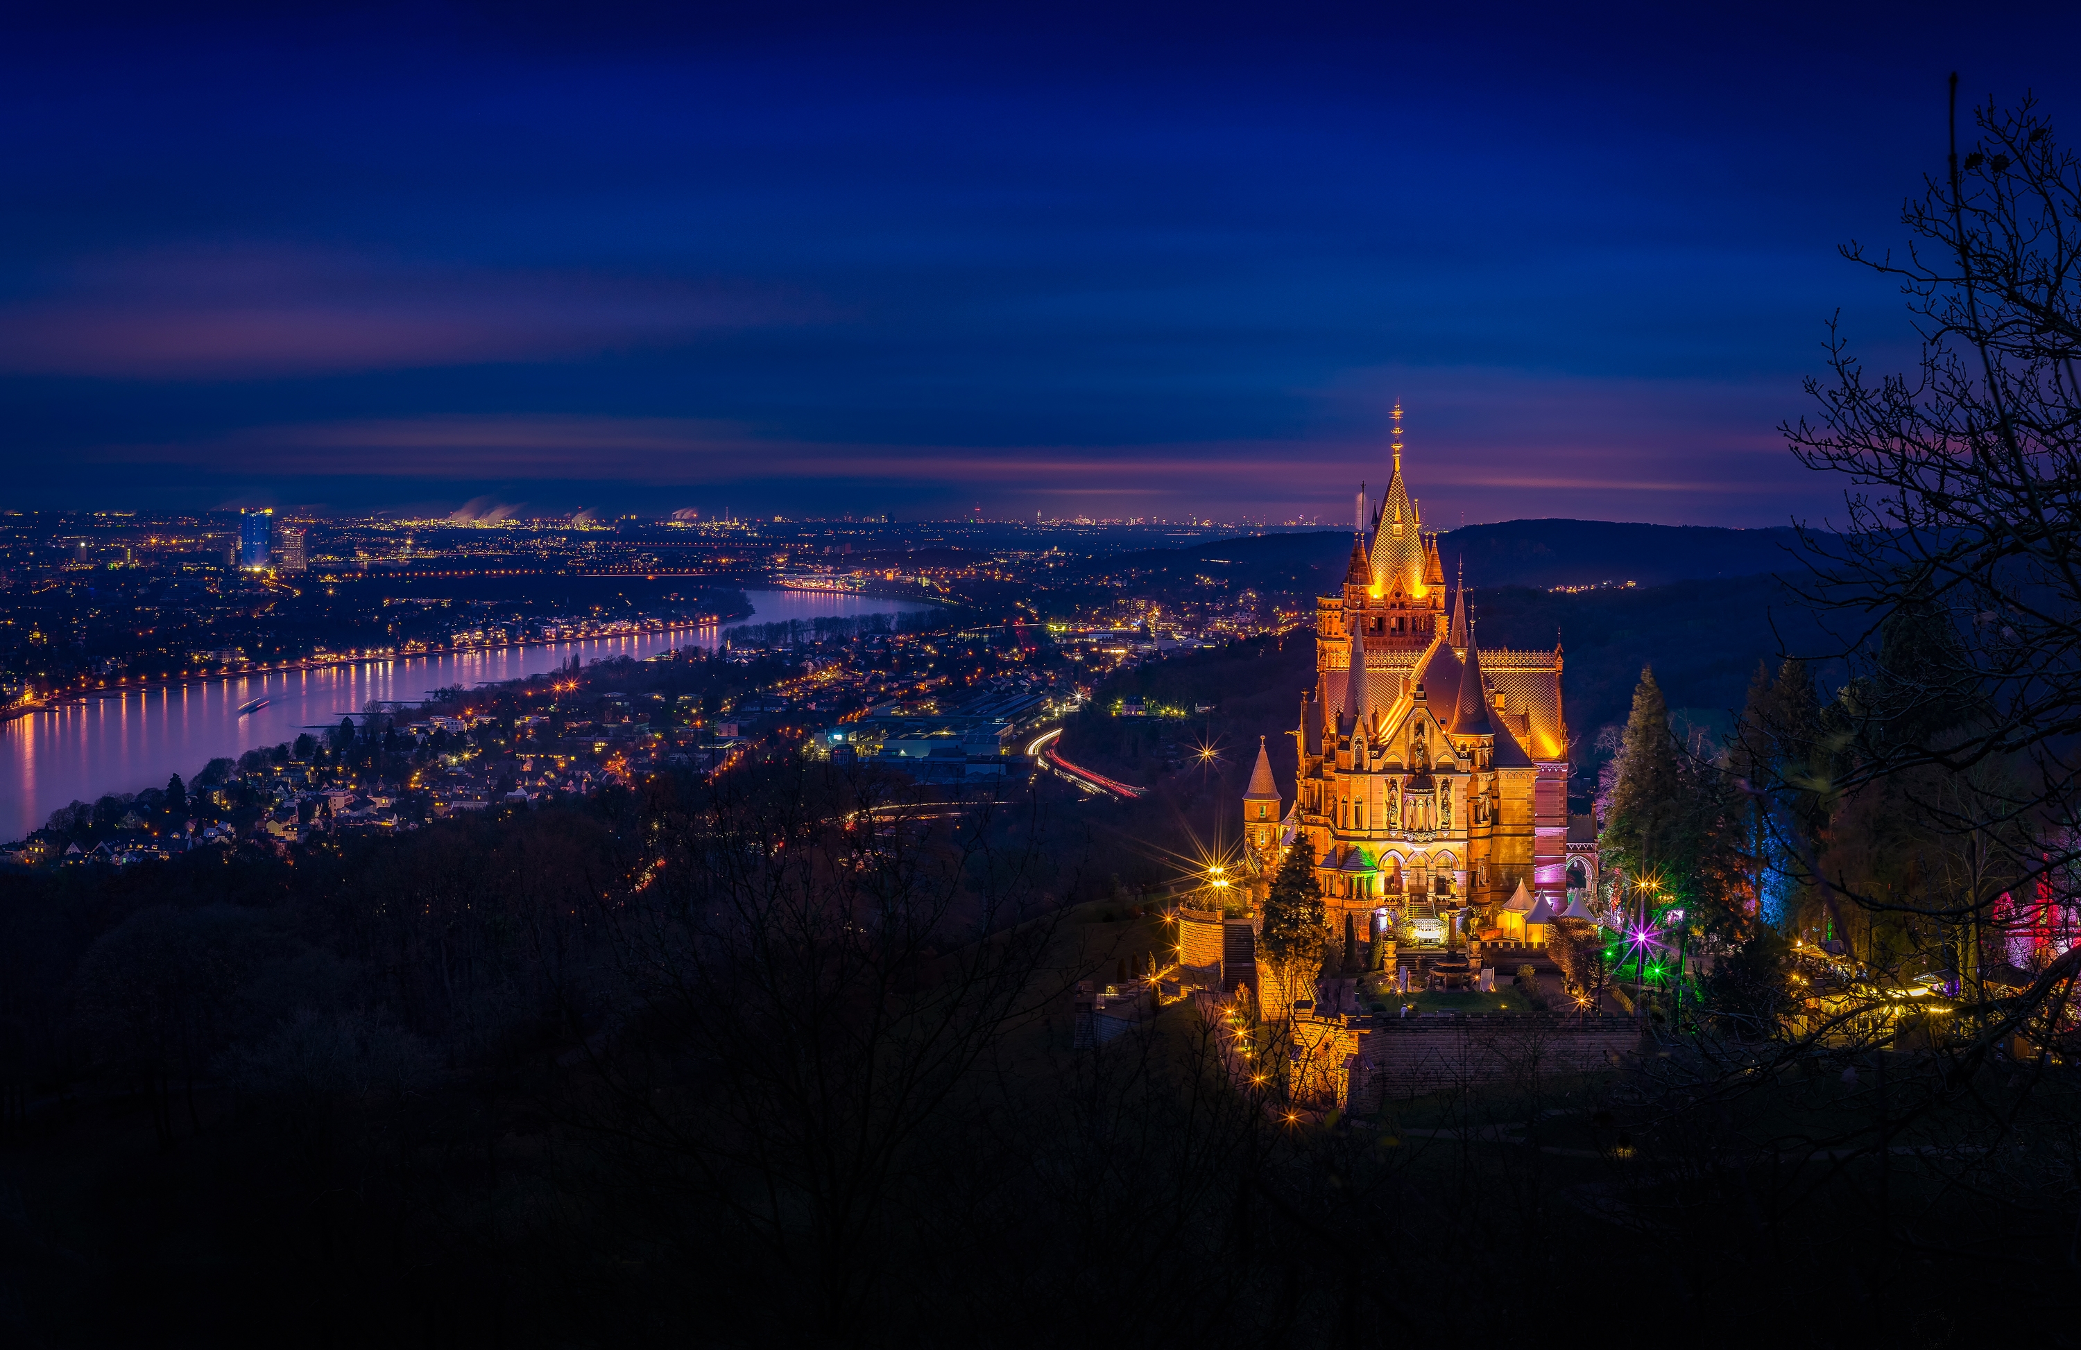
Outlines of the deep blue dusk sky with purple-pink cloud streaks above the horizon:
<svg viewBox="0 0 2081 1350">
<path fill-rule="evenodd" d="M 8 505 L 1827 512 L 1944 77 L 2081 6 L 25 12 Z"/>
</svg>

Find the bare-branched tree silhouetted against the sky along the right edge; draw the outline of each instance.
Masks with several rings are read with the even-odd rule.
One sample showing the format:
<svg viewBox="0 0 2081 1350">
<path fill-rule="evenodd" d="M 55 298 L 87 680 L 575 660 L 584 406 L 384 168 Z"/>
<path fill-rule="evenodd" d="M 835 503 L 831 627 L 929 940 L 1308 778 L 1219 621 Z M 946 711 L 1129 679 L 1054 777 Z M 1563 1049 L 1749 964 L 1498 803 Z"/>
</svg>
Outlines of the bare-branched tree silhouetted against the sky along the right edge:
<svg viewBox="0 0 2081 1350">
<path fill-rule="evenodd" d="M 1792 755 L 1867 820 L 2004 851 L 2016 888 L 2073 905 L 2081 865 L 2081 158 L 2025 98 L 1973 110 L 1958 146 L 1956 75 L 1946 171 L 1902 225 L 1906 250 L 1844 248 L 1896 281 L 1921 337 L 1912 374 L 1873 379 L 1831 327 L 1819 420 L 1785 426 L 1802 464 L 1844 478 L 1846 518 L 1804 535 L 1794 585 L 1831 628 L 1852 680 L 1817 751 Z M 1825 745 L 1840 743 L 1840 749 Z M 1825 772 L 1823 772 L 1825 763 Z M 1994 765 L 2006 790 L 1946 784 Z M 1885 801 L 1867 797 L 1881 788 Z M 1902 878 L 1810 867 L 1810 884 L 1869 915 L 1925 915 Z M 1977 921 L 1983 899 L 1950 901 Z M 2027 907 L 2019 907 L 2019 915 Z M 2031 1003 L 2081 969 L 2050 963 Z M 1989 1040 L 1992 1044 L 1992 1040 Z"/>
</svg>

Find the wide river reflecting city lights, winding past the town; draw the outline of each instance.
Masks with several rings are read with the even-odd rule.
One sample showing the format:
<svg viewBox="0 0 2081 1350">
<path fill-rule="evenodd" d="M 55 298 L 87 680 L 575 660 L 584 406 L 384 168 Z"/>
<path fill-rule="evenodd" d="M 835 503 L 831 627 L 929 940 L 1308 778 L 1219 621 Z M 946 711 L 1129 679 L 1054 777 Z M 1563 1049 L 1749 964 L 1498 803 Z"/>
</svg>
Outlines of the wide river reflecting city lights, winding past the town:
<svg viewBox="0 0 2081 1350">
<path fill-rule="evenodd" d="M 932 607 L 816 591 L 745 595 L 753 614 L 730 624 Z M 29 713 L 0 724 L 0 838 L 25 836 L 71 801 L 162 788 L 173 774 L 185 780 L 219 755 L 241 755 L 256 745 L 296 741 L 304 730 L 339 726 L 343 716 L 360 713 L 370 699 L 416 701 L 454 684 L 522 680 L 568 666 L 572 657 L 587 664 L 616 655 L 641 659 L 714 643 L 716 628 L 678 628 L 583 643 L 387 657 L 196 680 Z M 266 707 L 239 716 L 239 707 L 262 697 Z"/>
</svg>

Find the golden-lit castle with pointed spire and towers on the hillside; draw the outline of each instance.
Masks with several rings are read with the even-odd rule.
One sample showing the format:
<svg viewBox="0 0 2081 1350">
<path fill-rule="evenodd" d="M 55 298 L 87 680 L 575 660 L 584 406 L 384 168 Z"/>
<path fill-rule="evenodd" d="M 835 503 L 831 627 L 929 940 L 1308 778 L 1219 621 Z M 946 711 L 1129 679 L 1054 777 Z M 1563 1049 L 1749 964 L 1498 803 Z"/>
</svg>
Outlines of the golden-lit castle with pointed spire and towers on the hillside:
<svg viewBox="0 0 2081 1350">
<path fill-rule="evenodd" d="M 1567 905 L 1561 647 L 1478 647 L 1465 587 L 1450 589 L 1448 605 L 1438 537 L 1423 533 L 1403 485 L 1398 404 L 1392 449 L 1394 474 L 1369 522 L 1359 497 L 1342 595 L 1315 601 L 1317 674 L 1301 701 L 1294 803 L 1278 809 L 1261 755 L 1242 803 L 1244 840 L 1269 867 L 1280 845 L 1307 838 L 1332 936 L 1346 917 L 1371 936 L 1388 909 L 1403 938 L 1419 942 L 1442 932 L 1442 911 L 1467 905 L 1505 926 L 1534 909 L 1538 924 L 1538 909 Z"/>
</svg>

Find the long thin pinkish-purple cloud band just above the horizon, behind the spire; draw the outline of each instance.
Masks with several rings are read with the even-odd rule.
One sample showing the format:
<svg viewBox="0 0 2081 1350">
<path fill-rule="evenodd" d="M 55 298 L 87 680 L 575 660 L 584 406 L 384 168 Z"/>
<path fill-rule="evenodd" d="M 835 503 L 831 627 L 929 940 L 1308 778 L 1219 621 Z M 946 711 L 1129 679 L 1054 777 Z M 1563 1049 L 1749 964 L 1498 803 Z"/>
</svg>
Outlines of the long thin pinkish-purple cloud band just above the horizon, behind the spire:
<svg viewBox="0 0 2081 1350">
<path fill-rule="evenodd" d="M 1654 418 L 1648 418 L 1650 422 Z M 1519 439 L 1523 437 L 1523 439 Z M 1692 439 L 1698 433 L 1690 433 Z M 1411 435 L 1411 485 L 1440 508 L 1536 501 L 1540 493 L 1602 497 L 1750 495 L 1756 476 L 1729 474 L 1729 453 L 1773 476 L 1783 451 L 1752 426 L 1729 429 L 1698 453 L 1684 435 L 1636 422 L 1586 431 L 1569 418 L 1555 433 L 1494 429 L 1480 420 Z M 1305 505 L 1342 497 L 1359 478 L 1388 476 L 1382 439 L 1236 439 L 1155 445 L 874 445 L 766 435 L 737 422 L 612 416 L 429 416 L 260 426 L 204 443 L 119 445 L 108 462 L 189 464 L 210 472 L 277 478 L 341 474 L 400 481 L 616 481 L 653 487 L 733 483 L 878 481 L 986 495 L 1113 495 L 1149 501 Z M 462 508 L 502 508 L 481 497 Z M 1486 516 L 1486 512 L 1484 512 Z"/>
</svg>

